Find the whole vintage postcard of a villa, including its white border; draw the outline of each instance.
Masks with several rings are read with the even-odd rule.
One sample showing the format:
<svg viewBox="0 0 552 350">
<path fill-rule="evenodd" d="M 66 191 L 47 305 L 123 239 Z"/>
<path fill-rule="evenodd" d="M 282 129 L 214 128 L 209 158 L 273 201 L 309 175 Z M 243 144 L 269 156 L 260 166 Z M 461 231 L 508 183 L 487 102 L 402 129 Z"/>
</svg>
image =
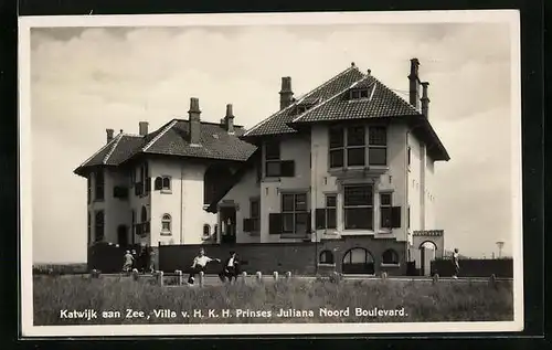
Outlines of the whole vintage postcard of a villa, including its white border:
<svg viewBox="0 0 552 350">
<path fill-rule="evenodd" d="M 523 329 L 517 11 L 20 18 L 22 335 Z"/>
</svg>

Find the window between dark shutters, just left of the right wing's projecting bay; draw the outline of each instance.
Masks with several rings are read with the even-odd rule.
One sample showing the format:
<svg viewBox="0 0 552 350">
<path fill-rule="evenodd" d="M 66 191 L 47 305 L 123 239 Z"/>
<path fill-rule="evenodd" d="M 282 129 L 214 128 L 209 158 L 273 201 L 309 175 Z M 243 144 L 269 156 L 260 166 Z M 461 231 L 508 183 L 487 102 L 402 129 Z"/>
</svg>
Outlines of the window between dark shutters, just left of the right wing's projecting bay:
<svg viewBox="0 0 552 350">
<path fill-rule="evenodd" d="M 307 193 L 282 194 L 282 232 L 306 234 L 310 222 L 307 208 Z"/>
</svg>

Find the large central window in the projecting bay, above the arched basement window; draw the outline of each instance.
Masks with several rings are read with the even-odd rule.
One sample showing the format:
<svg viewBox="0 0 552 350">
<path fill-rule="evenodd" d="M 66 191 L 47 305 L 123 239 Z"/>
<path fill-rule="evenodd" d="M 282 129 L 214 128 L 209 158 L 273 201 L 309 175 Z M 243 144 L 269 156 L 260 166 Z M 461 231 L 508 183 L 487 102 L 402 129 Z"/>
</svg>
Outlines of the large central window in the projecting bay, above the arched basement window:
<svg viewBox="0 0 552 350">
<path fill-rule="evenodd" d="M 347 185 L 343 191 L 346 230 L 373 230 L 372 184 Z"/>
</svg>

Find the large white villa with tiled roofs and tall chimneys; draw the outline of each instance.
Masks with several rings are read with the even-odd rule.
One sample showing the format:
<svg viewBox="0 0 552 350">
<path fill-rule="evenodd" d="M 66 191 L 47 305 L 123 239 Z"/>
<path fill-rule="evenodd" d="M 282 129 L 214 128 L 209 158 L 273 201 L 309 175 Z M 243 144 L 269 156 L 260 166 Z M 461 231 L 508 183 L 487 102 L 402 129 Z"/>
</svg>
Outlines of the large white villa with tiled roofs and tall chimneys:
<svg viewBox="0 0 552 350">
<path fill-rule="evenodd" d="M 427 243 L 443 254 L 434 165 L 449 156 L 418 66 L 411 60 L 408 102 L 352 63 L 300 98 L 283 77 L 280 109 L 250 130 L 231 105 L 220 124 L 201 121 L 197 98 L 188 120 L 153 132 L 144 121 L 140 135 L 108 129 L 75 170 L 88 179 L 88 243 L 333 241 L 350 246 L 343 272 L 401 261 L 427 273 Z M 332 250 L 319 263 L 333 263 Z"/>
</svg>

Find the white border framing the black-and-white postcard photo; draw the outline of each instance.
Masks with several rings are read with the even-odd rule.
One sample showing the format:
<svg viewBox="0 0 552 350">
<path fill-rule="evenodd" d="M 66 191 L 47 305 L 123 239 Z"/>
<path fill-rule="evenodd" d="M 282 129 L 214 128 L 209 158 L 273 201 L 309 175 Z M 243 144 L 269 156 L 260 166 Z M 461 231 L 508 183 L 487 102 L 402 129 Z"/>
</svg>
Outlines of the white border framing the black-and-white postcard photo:
<svg viewBox="0 0 552 350">
<path fill-rule="evenodd" d="M 91 336 L 236 336 L 321 333 L 497 332 L 523 329 L 523 256 L 521 208 L 521 67 L 520 17 L 516 10 L 310 12 L 155 15 L 55 15 L 19 19 L 19 129 L 21 220 L 21 333 L 23 337 Z M 187 26 L 187 25 L 335 25 L 414 23 L 509 23 L 511 34 L 512 255 L 513 321 L 390 324 L 240 324 L 33 326 L 31 28 Z"/>
</svg>

